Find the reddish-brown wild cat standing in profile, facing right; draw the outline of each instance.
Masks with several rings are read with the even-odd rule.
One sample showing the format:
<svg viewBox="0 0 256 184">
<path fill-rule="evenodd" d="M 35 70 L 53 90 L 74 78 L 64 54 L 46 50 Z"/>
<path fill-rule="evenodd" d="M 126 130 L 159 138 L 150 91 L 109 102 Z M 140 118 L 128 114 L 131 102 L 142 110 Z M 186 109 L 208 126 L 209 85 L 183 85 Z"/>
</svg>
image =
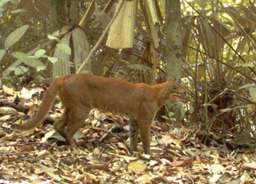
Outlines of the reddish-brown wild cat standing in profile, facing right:
<svg viewBox="0 0 256 184">
<path fill-rule="evenodd" d="M 50 85 L 34 118 L 24 124 L 13 124 L 12 129 L 28 131 L 39 126 L 47 117 L 57 93 L 65 108 L 54 128 L 74 148 L 74 133 L 84 124 L 92 108 L 98 108 L 129 116 L 131 150 L 137 150 L 140 131 L 144 153 L 150 154 L 150 124 L 155 114 L 169 99 L 182 101 L 185 87 L 174 81 L 150 86 L 86 73 L 68 74 Z"/>
</svg>

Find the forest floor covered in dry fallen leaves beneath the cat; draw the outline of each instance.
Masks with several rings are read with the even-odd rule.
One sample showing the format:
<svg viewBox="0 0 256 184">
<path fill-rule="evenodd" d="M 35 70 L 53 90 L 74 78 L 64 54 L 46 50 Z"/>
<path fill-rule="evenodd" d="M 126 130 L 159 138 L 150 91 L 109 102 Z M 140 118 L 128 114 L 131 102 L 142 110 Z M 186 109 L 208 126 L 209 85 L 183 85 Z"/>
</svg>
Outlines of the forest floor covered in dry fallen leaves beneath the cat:
<svg viewBox="0 0 256 184">
<path fill-rule="evenodd" d="M 20 90 L 19 106 L 30 107 L 28 114 L 33 115 L 37 107 L 32 104 L 40 104 L 34 96 L 41 91 L 40 87 Z M 2 101 L 15 101 L 17 92 L 7 87 L 0 92 Z M 167 124 L 155 121 L 148 156 L 130 152 L 126 118 L 94 110 L 74 135 L 79 148 L 74 150 L 54 133 L 52 122 L 63 112 L 59 104 L 50 111 L 51 118 L 22 135 L 10 126 L 27 115 L 3 104 L 0 183 L 256 183 L 255 147 L 230 150 L 215 141 L 220 131 L 205 134 L 180 124 L 165 131 Z M 230 145 L 236 137 L 231 132 L 222 136 Z M 255 145 L 254 139 L 249 141 Z"/>
</svg>

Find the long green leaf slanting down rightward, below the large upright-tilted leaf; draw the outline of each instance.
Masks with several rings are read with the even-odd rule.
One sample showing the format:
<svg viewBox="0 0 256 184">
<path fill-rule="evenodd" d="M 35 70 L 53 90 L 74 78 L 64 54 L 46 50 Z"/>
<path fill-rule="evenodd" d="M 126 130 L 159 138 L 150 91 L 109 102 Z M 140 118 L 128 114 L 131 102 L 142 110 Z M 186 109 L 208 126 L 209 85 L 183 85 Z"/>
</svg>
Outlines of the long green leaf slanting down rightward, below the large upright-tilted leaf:
<svg viewBox="0 0 256 184">
<path fill-rule="evenodd" d="M 47 66 L 45 66 L 40 60 L 36 60 L 35 58 L 29 57 L 26 53 L 15 52 L 12 53 L 12 56 L 16 57 L 18 60 L 21 60 L 28 66 L 35 67 L 37 71 L 45 70 Z"/>
</svg>

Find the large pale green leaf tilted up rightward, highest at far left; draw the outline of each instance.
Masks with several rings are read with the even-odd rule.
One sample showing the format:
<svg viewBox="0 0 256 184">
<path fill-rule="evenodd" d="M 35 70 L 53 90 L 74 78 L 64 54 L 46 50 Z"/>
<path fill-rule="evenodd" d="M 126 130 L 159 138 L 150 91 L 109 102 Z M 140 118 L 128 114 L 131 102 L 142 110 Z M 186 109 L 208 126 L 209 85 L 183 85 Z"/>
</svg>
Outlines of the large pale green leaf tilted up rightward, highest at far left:
<svg viewBox="0 0 256 184">
<path fill-rule="evenodd" d="M 14 43 L 17 43 L 19 39 L 25 34 L 28 28 L 29 28 L 29 25 L 25 25 L 16 29 L 11 34 L 9 34 L 9 36 L 5 39 L 5 48 L 9 48 Z"/>
</svg>

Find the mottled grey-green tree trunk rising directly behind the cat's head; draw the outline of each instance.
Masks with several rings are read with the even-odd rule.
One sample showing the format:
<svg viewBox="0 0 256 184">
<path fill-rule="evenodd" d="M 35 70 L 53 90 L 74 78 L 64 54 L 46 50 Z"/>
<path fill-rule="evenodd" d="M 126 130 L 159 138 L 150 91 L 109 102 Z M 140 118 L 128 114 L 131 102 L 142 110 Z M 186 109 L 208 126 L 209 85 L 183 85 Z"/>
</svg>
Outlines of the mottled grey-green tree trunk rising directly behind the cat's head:
<svg viewBox="0 0 256 184">
<path fill-rule="evenodd" d="M 166 72 L 167 80 L 181 82 L 182 77 L 182 14 L 180 0 L 165 1 L 165 34 L 166 34 Z M 182 122 L 182 104 L 177 101 L 167 103 L 168 111 L 175 113 L 177 123 Z"/>
</svg>

